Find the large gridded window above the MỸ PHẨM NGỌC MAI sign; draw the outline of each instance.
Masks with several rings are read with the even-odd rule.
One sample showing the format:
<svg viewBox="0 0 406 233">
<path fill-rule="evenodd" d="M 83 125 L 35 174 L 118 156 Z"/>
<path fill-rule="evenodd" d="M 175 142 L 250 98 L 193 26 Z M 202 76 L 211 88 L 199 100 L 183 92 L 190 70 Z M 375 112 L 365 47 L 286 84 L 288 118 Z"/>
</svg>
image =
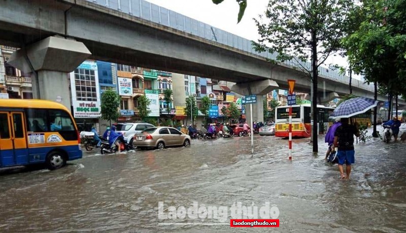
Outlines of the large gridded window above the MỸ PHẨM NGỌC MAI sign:
<svg viewBox="0 0 406 233">
<path fill-rule="evenodd" d="M 97 101 L 96 81 L 93 70 L 76 69 L 75 89 L 77 101 Z"/>
</svg>

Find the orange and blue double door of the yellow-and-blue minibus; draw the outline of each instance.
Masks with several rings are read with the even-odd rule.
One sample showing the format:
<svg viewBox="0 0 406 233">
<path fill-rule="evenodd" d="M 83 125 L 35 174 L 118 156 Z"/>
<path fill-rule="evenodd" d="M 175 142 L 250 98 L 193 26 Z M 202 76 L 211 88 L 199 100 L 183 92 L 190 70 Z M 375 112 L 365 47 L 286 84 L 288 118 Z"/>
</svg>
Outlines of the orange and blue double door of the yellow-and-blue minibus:
<svg viewBox="0 0 406 233">
<path fill-rule="evenodd" d="M 23 113 L 0 112 L 0 166 L 27 163 L 27 141 Z"/>
</svg>

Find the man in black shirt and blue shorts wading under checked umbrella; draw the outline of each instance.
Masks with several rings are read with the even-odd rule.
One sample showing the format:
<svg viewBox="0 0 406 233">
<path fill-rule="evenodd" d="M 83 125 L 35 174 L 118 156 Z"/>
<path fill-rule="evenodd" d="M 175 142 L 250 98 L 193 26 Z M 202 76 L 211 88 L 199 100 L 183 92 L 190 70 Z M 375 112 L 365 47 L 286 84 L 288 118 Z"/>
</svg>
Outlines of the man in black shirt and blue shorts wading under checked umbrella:
<svg viewBox="0 0 406 233">
<path fill-rule="evenodd" d="M 341 118 L 341 126 L 334 133 L 334 147 L 337 148 L 341 179 L 350 179 L 351 165 L 355 163 L 354 135 L 359 137 L 359 130 L 348 123 L 348 118 Z M 346 175 L 344 174 L 346 164 Z"/>
</svg>

